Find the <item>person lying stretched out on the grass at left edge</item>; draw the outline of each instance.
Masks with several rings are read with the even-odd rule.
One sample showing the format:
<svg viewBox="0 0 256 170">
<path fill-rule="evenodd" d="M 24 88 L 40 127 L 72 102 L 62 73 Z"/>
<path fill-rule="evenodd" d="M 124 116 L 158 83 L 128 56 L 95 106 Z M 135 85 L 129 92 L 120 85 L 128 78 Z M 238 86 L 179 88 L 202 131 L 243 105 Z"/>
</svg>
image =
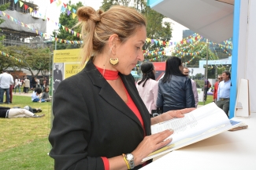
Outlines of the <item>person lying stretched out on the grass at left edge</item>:
<svg viewBox="0 0 256 170">
<path fill-rule="evenodd" d="M 44 114 L 33 114 L 27 109 L 0 107 L 0 118 L 42 118 L 44 116 Z"/>
</svg>

